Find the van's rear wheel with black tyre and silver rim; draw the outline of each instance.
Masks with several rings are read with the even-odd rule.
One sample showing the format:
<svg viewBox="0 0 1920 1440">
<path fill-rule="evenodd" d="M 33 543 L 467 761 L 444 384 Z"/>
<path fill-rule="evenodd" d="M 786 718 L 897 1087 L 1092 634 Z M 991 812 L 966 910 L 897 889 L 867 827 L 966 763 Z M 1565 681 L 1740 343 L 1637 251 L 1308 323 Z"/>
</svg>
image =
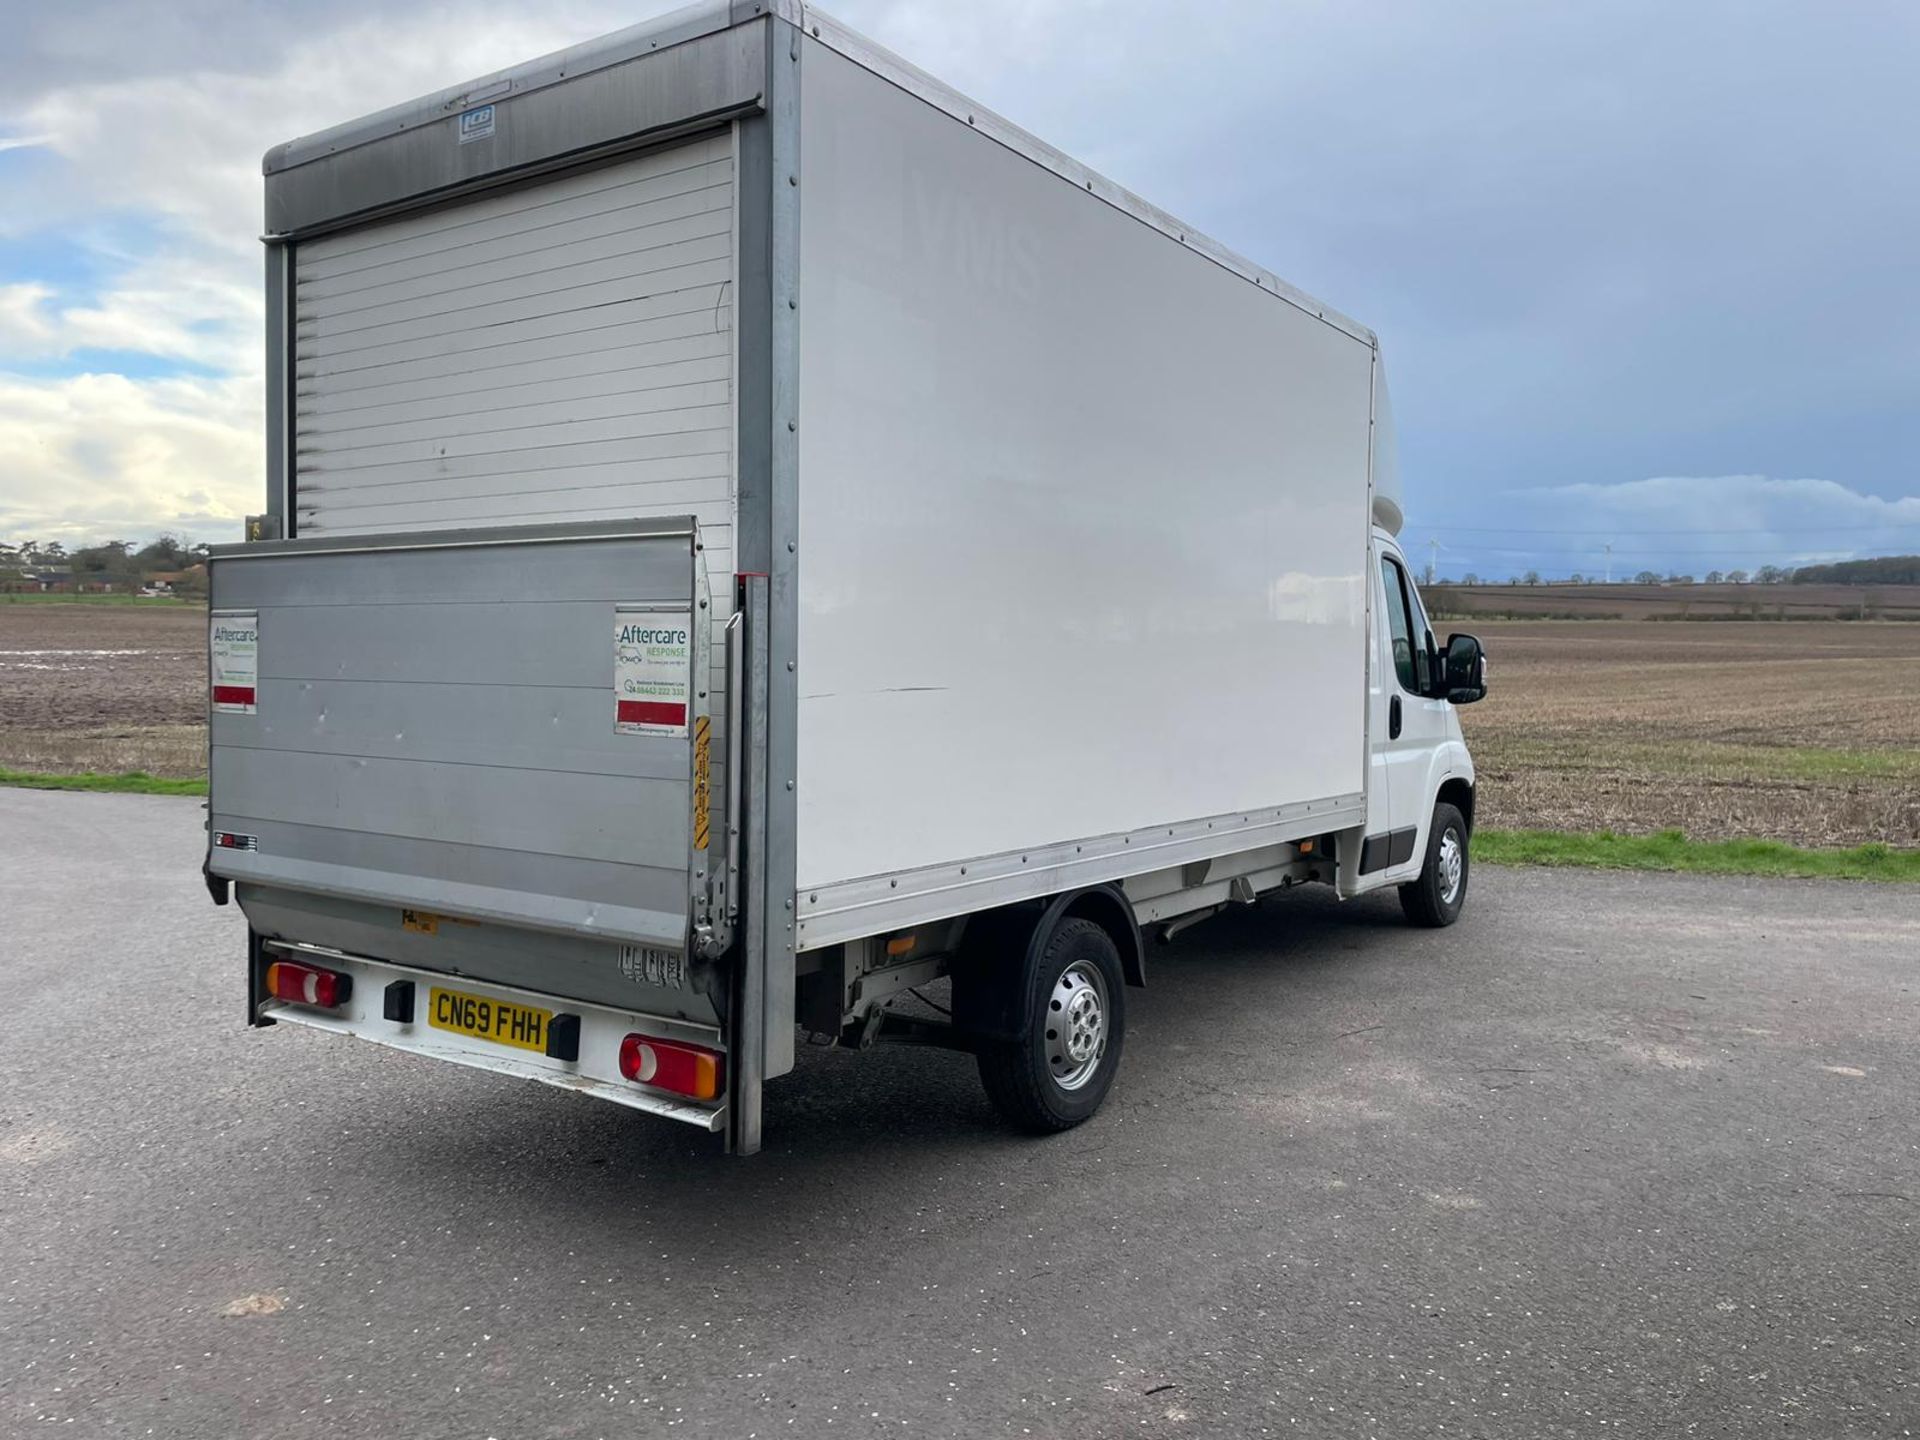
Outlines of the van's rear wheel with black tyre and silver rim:
<svg viewBox="0 0 1920 1440">
<path fill-rule="evenodd" d="M 979 1079 L 1006 1119 L 1052 1135 L 1092 1116 L 1114 1085 L 1127 1039 L 1125 975 L 1104 929 L 1066 920 L 1027 983 L 1027 1033 L 981 1046 Z"/>
</svg>

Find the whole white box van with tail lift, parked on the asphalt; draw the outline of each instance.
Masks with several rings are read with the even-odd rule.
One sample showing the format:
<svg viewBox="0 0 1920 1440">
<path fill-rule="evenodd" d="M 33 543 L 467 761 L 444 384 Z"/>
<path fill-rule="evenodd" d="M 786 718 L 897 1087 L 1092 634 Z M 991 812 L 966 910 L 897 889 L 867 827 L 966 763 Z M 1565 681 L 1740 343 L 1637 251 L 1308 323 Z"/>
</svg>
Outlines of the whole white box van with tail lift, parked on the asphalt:
<svg viewBox="0 0 1920 1440">
<path fill-rule="evenodd" d="M 900 1037 L 1046 1131 L 1142 935 L 1459 914 L 1484 662 L 1396 547 L 1365 326 L 795 0 L 265 169 L 205 868 L 252 1023 L 739 1152 L 797 1039 Z"/>
</svg>

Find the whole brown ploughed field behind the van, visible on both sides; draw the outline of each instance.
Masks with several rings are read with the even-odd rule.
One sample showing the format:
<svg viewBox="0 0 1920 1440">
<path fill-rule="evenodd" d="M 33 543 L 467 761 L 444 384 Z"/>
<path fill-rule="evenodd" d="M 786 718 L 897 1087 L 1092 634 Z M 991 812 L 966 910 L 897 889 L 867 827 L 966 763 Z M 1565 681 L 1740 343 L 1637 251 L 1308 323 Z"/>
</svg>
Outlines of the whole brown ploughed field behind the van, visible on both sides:
<svg viewBox="0 0 1920 1440">
<path fill-rule="evenodd" d="M 1503 828 L 1920 845 L 1920 624 L 1453 620 Z M 0 603 L 0 768 L 205 772 L 205 611 Z"/>
</svg>

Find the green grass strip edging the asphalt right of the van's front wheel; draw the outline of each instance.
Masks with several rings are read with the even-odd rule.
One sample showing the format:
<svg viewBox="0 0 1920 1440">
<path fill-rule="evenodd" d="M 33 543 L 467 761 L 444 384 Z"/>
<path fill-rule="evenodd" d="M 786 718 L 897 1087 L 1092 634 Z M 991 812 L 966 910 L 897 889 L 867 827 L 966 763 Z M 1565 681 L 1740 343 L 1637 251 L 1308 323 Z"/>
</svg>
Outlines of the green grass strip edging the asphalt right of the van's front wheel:
<svg viewBox="0 0 1920 1440">
<path fill-rule="evenodd" d="M 1601 829 L 1475 829 L 1473 856 L 1490 864 L 1590 866 L 1597 870 L 1688 870 L 1701 876 L 1791 876 L 1920 883 L 1920 851 L 1855 845 L 1816 851 L 1780 841 L 1690 841 L 1678 829 L 1617 835 Z"/>
</svg>

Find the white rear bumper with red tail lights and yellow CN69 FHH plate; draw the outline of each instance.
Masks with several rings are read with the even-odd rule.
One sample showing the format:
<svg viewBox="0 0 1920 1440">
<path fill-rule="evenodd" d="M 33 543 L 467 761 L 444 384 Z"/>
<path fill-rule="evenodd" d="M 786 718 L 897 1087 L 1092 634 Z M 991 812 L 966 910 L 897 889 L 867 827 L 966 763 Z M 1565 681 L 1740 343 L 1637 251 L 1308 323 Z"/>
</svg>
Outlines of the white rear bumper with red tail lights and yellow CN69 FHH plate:
<svg viewBox="0 0 1920 1440">
<path fill-rule="evenodd" d="M 284 1020 L 357 1035 L 394 1050 L 580 1091 L 703 1131 L 726 1127 L 728 1058 L 718 1029 L 319 945 L 265 941 L 259 956 L 253 1018 L 261 1023 Z M 326 998 L 338 1004 L 317 1004 Z"/>
</svg>

